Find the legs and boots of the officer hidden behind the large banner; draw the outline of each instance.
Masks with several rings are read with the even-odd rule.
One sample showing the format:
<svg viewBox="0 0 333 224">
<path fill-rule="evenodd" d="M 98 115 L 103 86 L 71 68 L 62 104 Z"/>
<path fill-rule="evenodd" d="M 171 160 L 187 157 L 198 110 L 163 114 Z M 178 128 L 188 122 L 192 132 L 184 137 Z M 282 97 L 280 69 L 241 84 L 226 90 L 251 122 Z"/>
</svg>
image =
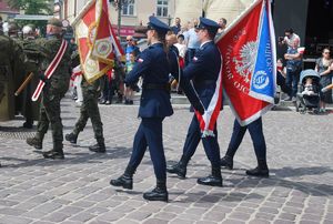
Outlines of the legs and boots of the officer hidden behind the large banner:
<svg viewBox="0 0 333 224">
<path fill-rule="evenodd" d="M 229 170 L 233 169 L 233 156 L 238 151 L 246 130 L 249 130 L 250 132 L 258 161 L 258 166 L 255 169 L 248 170 L 246 174 L 252 176 L 269 177 L 270 172 L 266 163 L 266 143 L 262 131 L 261 118 L 256 119 L 245 126 L 241 126 L 241 124 L 236 120 L 234 120 L 233 132 L 228 146 L 228 151 L 221 159 L 221 166 L 228 167 Z"/>
</svg>

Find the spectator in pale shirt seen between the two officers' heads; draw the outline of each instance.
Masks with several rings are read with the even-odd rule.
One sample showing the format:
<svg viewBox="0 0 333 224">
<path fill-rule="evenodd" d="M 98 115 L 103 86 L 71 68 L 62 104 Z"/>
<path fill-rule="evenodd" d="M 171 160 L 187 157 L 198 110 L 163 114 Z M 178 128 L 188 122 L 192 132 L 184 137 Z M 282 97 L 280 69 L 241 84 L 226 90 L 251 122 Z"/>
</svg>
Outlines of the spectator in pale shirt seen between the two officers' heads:
<svg viewBox="0 0 333 224">
<path fill-rule="evenodd" d="M 184 34 L 186 45 L 188 45 L 186 64 L 189 64 L 192 61 L 196 49 L 200 47 L 200 41 L 196 35 L 196 29 L 198 29 L 198 19 L 194 19 L 191 23 L 191 28 Z"/>
</svg>

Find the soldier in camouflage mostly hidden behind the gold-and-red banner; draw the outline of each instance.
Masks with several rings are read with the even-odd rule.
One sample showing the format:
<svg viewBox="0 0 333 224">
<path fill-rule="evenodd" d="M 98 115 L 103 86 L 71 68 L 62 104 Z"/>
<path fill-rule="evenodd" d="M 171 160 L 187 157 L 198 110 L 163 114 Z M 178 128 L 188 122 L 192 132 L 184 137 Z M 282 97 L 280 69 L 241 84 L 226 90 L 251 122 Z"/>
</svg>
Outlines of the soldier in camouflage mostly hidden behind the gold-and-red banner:
<svg viewBox="0 0 333 224">
<path fill-rule="evenodd" d="M 77 67 L 80 64 L 79 53 L 78 51 L 72 54 L 72 65 Z M 88 83 L 85 79 L 81 82 L 82 93 L 83 93 L 83 102 L 81 105 L 80 118 L 75 123 L 74 130 L 67 134 L 64 138 L 67 141 L 75 144 L 78 140 L 78 135 L 81 131 L 83 131 L 88 119 L 90 118 L 92 123 L 92 129 L 94 132 L 94 138 L 97 140 L 97 144 L 89 146 L 89 150 L 92 152 L 104 153 L 105 144 L 103 138 L 103 124 L 101 121 L 101 115 L 98 106 L 98 99 L 101 93 L 101 84 L 102 79 L 95 80 L 93 83 Z"/>
</svg>

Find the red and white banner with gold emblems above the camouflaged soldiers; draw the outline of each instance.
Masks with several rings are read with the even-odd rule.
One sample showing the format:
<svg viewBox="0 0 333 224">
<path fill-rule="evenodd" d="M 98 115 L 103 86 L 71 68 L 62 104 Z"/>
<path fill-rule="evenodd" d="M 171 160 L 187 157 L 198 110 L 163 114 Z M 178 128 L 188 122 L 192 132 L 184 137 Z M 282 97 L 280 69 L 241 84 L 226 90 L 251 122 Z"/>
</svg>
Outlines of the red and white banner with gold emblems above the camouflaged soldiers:
<svg viewBox="0 0 333 224">
<path fill-rule="evenodd" d="M 107 0 L 91 0 L 72 24 L 83 75 L 93 82 L 113 68 L 115 57 L 123 54 L 109 20 Z"/>
</svg>

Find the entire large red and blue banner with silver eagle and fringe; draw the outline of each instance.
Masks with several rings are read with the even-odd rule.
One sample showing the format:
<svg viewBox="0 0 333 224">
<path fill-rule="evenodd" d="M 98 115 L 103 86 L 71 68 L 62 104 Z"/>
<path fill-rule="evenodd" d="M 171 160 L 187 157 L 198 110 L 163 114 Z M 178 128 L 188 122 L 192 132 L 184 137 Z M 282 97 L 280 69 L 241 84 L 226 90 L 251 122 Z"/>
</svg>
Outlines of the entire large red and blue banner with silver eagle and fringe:
<svg viewBox="0 0 333 224">
<path fill-rule="evenodd" d="M 276 80 L 275 34 L 268 0 L 256 0 L 216 40 L 224 95 L 241 125 L 268 112 Z"/>
</svg>

